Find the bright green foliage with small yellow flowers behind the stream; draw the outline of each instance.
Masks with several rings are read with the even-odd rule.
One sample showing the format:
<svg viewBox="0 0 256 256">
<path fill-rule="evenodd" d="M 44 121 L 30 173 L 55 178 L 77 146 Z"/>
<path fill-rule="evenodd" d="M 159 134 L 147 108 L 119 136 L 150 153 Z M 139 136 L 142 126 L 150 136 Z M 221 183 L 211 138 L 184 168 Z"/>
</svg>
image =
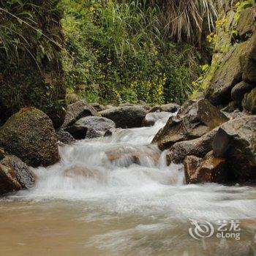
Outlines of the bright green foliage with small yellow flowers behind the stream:
<svg viewBox="0 0 256 256">
<path fill-rule="evenodd" d="M 183 102 L 199 54 L 165 37 L 160 10 L 140 1 L 63 0 L 69 92 L 91 102 Z"/>
</svg>

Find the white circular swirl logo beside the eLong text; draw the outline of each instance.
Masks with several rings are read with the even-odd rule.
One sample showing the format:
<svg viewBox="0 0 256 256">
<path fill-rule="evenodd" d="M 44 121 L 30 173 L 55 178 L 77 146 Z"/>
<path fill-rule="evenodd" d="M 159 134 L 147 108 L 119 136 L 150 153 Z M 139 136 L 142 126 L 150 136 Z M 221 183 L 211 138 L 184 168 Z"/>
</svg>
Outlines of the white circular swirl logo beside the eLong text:
<svg viewBox="0 0 256 256">
<path fill-rule="evenodd" d="M 200 240 L 201 238 L 208 238 L 214 234 L 214 226 L 210 222 L 197 221 L 189 219 L 193 227 L 189 228 L 189 235 L 192 238 Z"/>
</svg>

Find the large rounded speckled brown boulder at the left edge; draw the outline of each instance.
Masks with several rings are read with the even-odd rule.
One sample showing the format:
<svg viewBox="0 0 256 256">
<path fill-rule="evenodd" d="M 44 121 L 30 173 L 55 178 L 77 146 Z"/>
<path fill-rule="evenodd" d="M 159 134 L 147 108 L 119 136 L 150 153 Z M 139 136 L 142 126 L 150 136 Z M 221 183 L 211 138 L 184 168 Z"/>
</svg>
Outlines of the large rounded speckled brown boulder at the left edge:
<svg viewBox="0 0 256 256">
<path fill-rule="evenodd" d="M 7 120 L 0 128 L 0 146 L 33 167 L 60 159 L 53 122 L 36 108 L 23 108 Z"/>
</svg>

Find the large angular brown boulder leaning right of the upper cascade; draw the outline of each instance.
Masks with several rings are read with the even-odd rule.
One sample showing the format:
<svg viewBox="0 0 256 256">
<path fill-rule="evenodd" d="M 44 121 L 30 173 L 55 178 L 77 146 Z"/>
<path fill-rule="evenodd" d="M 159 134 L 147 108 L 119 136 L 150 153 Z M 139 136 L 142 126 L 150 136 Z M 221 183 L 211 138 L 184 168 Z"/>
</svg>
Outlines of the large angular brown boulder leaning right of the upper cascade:
<svg viewBox="0 0 256 256">
<path fill-rule="evenodd" d="M 181 107 L 176 117 L 169 118 L 152 142 L 157 143 L 161 149 L 170 148 L 178 141 L 200 138 L 227 120 L 228 118 L 207 99 L 189 100 Z"/>
</svg>

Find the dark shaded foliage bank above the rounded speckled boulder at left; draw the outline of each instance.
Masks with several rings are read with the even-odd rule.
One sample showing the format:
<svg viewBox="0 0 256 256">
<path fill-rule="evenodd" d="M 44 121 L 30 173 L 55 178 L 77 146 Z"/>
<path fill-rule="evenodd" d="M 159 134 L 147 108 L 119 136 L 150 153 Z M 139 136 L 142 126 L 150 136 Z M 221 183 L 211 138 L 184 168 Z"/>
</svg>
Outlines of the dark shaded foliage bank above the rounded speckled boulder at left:
<svg viewBox="0 0 256 256">
<path fill-rule="evenodd" d="M 0 0 L 0 119 L 35 106 L 61 123 L 59 1 Z"/>
</svg>

